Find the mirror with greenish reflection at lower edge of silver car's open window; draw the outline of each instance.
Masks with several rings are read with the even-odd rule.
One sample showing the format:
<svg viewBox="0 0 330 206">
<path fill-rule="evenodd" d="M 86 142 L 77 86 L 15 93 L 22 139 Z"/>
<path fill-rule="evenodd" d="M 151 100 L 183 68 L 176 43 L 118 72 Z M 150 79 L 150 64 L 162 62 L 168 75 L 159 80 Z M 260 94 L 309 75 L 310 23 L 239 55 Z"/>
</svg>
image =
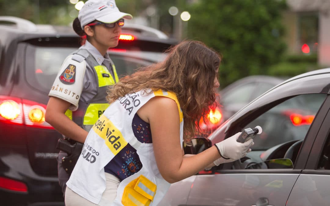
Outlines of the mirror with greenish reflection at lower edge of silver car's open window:
<svg viewBox="0 0 330 206">
<path fill-rule="evenodd" d="M 274 159 L 251 164 L 246 169 L 293 169 L 290 159 Z"/>
</svg>

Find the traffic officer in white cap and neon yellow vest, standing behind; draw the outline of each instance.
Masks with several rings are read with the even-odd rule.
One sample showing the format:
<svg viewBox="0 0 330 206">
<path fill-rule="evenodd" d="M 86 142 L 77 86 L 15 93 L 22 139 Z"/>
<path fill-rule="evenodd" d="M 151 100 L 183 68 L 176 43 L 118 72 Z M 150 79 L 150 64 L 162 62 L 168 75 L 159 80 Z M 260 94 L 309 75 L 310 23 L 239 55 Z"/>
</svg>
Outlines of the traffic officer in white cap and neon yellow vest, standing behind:
<svg viewBox="0 0 330 206">
<path fill-rule="evenodd" d="M 46 109 L 46 121 L 65 137 L 57 144 L 63 194 L 88 131 L 109 105 L 107 88 L 118 81 L 107 50 L 117 46 L 124 19 L 132 15 L 120 12 L 115 0 L 88 0 L 73 23 L 86 42 L 64 60 Z"/>
</svg>

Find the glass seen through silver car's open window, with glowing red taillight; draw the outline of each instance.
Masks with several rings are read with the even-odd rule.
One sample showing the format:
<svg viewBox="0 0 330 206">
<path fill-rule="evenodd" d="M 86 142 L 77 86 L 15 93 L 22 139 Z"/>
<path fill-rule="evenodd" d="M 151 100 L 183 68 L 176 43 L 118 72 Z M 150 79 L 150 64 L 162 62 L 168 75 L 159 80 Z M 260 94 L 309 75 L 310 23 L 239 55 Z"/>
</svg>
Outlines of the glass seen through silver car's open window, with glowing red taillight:
<svg viewBox="0 0 330 206">
<path fill-rule="evenodd" d="M 254 138 L 251 149 L 267 150 L 290 140 L 304 139 L 325 98 L 325 94 L 303 94 L 261 114 L 245 127 L 262 128 L 262 133 Z"/>
</svg>

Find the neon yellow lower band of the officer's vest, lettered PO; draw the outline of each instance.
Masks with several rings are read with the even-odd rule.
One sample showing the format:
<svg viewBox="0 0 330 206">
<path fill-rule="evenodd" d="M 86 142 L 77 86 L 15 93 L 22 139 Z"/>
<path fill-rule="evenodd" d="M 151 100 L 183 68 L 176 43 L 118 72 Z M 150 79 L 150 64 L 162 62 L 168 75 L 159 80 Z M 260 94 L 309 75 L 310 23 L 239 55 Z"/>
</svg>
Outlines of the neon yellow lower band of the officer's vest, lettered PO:
<svg viewBox="0 0 330 206">
<path fill-rule="evenodd" d="M 108 108 L 108 103 L 94 103 L 89 104 L 85 115 L 83 117 L 83 125 L 93 125 L 97 119 L 103 114 L 103 112 Z M 72 117 L 72 112 L 71 112 Z"/>
</svg>

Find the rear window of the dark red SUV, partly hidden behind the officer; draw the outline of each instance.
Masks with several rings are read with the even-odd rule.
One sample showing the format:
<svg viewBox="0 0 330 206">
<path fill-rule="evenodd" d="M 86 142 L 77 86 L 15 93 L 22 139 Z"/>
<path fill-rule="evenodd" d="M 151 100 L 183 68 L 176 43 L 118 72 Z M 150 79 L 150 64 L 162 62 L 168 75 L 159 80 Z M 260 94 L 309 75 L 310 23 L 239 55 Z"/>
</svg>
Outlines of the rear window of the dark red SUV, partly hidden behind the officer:
<svg viewBox="0 0 330 206">
<path fill-rule="evenodd" d="M 77 48 L 75 47 L 39 47 L 36 46 L 34 51 L 34 68 L 27 68 L 27 73 L 30 75 L 31 72 L 35 74 L 35 81 L 29 81 L 29 83 L 37 88 L 42 89 L 46 92 L 52 86 L 56 74 L 61 67 L 64 59 Z M 131 74 L 135 69 L 146 66 L 153 61 L 149 61 L 148 55 L 150 52 L 140 51 L 137 57 L 132 56 L 129 52 L 121 55 L 111 54 L 118 76 L 124 74 Z M 158 53 L 158 52 L 154 52 Z M 160 53 L 160 52 L 159 52 Z M 161 53 L 160 53 L 161 54 Z M 156 56 L 156 55 L 153 55 Z M 160 55 L 161 56 L 161 55 Z M 145 59 L 143 59 L 145 58 Z M 163 58 L 159 58 L 163 60 Z M 32 71 L 31 71 L 32 70 Z M 40 88 L 41 87 L 41 88 Z"/>
</svg>

